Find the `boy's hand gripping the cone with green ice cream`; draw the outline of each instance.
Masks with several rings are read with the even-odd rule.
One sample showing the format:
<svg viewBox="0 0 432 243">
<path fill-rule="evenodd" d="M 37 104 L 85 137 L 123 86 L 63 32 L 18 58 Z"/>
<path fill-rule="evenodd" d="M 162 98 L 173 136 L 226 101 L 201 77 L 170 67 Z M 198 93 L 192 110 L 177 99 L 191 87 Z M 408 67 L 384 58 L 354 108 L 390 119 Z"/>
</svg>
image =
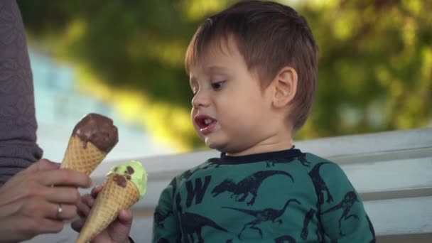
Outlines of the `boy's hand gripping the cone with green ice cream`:
<svg viewBox="0 0 432 243">
<path fill-rule="evenodd" d="M 102 185 L 92 189 L 91 194 L 83 195 L 78 202 L 78 215 L 80 220 L 72 222 L 72 229 L 80 232 L 82 226 L 84 226 L 85 219 L 90 213 L 93 203 L 97 197 L 97 194 L 102 190 Z M 92 240 L 94 243 L 99 242 L 115 242 L 124 243 L 129 242 L 129 232 L 131 231 L 132 225 L 132 212 L 131 210 L 120 210 L 119 216 L 114 222 L 111 223 L 104 229 L 100 234 Z"/>
</svg>

